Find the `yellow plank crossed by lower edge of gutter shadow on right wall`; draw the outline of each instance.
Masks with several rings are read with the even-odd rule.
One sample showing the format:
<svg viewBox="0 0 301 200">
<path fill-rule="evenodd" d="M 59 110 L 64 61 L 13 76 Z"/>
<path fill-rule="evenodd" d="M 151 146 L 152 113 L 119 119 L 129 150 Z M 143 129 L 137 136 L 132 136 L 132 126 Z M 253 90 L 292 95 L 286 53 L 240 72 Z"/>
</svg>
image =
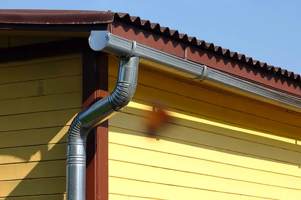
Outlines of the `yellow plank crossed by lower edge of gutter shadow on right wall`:
<svg viewBox="0 0 301 200">
<path fill-rule="evenodd" d="M 154 136 L 111 126 L 109 126 L 109 142 L 301 177 L 301 170 L 297 164 L 289 164 L 268 158 L 263 159 L 262 157 L 231 152 L 226 149 L 186 141 L 181 142 L 173 138 Z"/>
</svg>

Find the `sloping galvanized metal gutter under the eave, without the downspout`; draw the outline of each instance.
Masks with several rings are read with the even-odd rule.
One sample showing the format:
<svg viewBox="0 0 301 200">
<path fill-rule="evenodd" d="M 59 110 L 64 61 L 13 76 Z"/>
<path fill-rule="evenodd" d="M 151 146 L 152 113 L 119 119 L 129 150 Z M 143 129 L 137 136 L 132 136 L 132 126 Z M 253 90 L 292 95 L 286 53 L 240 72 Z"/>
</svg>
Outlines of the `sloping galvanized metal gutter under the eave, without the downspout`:
<svg viewBox="0 0 301 200">
<path fill-rule="evenodd" d="M 91 31 L 89 43 L 93 50 L 101 50 L 120 57 L 130 53 L 133 46 L 131 40 L 111 34 L 109 31 L 97 30 Z M 285 109 L 301 112 L 301 100 L 299 98 L 264 88 L 258 84 L 206 67 L 206 65 L 191 62 L 138 43 L 136 44 L 135 51 L 132 52 L 132 56 L 139 56 L 141 63 L 153 67 L 180 74 L 194 80 L 201 80 L 213 86 L 221 87 Z"/>
</svg>

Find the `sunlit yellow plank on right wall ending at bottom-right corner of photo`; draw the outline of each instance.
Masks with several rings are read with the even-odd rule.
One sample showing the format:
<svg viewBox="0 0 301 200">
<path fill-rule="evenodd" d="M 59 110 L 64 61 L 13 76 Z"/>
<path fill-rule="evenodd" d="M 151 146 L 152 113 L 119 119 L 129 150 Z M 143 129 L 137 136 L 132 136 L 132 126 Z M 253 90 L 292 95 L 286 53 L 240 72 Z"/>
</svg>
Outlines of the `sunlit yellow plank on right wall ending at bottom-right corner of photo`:
<svg viewBox="0 0 301 200">
<path fill-rule="evenodd" d="M 300 199 L 301 190 L 109 160 L 109 176 L 272 199 Z M 122 170 L 120 170 L 122 169 Z M 147 171 L 147 172 L 146 172 Z"/>
</svg>

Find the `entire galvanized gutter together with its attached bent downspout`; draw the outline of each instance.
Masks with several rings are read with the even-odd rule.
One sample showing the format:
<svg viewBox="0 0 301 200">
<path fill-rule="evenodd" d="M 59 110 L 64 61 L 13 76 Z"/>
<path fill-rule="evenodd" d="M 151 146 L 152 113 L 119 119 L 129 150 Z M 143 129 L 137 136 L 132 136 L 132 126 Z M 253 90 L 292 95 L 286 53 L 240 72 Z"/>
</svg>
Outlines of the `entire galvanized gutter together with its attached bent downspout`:
<svg viewBox="0 0 301 200">
<path fill-rule="evenodd" d="M 139 58 L 144 64 L 301 112 L 301 100 L 298 98 L 264 88 L 206 65 L 137 44 L 109 31 L 91 31 L 89 44 L 93 50 L 120 57 L 118 81 L 111 94 L 80 112 L 70 125 L 67 139 L 67 200 L 85 199 L 85 151 L 88 132 L 121 111 L 131 100 L 137 84 Z"/>
</svg>

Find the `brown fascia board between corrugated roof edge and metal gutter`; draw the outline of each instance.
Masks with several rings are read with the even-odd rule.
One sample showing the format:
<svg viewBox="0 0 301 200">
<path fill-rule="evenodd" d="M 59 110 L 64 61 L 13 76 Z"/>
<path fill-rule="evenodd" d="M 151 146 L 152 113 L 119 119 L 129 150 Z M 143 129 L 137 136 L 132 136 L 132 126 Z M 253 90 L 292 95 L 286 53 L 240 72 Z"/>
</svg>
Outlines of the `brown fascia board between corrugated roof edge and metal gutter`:
<svg viewBox="0 0 301 200">
<path fill-rule="evenodd" d="M 146 46 L 188 59 L 190 61 L 205 64 L 219 71 L 235 75 L 264 87 L 280 92 L 301 96 L 301 83 L 272 74 L 260 68 L 246 63 L 218 55 L 216 53 L 190 46 L 183 42 L 154 33 L 125 23 L 114 20 L 111 32 L 115 35 L 135 40 Z"/>
</svg>

